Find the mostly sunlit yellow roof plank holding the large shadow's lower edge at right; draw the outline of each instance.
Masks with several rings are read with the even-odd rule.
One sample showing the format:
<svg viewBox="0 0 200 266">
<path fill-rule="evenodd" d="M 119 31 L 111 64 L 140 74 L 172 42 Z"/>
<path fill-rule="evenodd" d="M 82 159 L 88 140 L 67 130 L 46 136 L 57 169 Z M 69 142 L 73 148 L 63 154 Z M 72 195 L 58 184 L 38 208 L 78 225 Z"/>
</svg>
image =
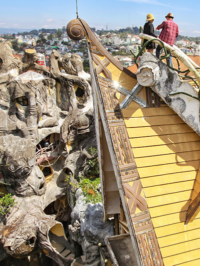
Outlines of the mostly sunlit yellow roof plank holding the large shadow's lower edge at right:
<svg viewBox="0 0 200 266">
<path fill-rule="evenodd" d="M 150 177 L 150 176 L 158 176 L 165 174 L 173 174 L 180 172 L 188 172 L 197 170 L 199 166 L 199 160 L 197 161 L 188 161 L 180 164 L 165 164 L 165 165 L 156 165 L 149 167 L 138 168 L 139 177 Z"/>
</svg>

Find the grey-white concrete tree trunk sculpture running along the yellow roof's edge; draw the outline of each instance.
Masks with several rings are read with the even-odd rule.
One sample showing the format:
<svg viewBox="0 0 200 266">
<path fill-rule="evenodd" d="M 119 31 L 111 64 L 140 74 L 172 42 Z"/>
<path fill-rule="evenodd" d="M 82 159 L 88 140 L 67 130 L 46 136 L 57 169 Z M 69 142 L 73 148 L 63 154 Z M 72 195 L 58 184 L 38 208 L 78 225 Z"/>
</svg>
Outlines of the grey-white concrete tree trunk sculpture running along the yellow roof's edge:
<svg viewBox="0 0 200 266">
<path fill-rule="evenodd" d="M 140 85 L 149 86 L 185 123 L 200 134 L 199 99 L 189 82 L 181 81 L 174 70 L 148 52 L 140 57 L 136 75 Z"/>
</svg>

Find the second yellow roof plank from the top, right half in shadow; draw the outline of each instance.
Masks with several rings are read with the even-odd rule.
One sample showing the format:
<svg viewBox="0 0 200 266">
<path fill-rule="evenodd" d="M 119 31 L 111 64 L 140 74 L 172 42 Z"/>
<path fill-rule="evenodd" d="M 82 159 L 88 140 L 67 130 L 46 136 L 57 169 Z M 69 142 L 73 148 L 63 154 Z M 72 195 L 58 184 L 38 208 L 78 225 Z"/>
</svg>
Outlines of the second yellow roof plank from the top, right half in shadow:
<svg viewBox="0 0 200 266">
<path fill-rule="evenodd" d="M 126 127 L 146 127 L 157 125 L 173 125 L 185 123 L 177 114 L 150 116 L 150 117 L 135 117 L 124 119 Z"/>
</svg>

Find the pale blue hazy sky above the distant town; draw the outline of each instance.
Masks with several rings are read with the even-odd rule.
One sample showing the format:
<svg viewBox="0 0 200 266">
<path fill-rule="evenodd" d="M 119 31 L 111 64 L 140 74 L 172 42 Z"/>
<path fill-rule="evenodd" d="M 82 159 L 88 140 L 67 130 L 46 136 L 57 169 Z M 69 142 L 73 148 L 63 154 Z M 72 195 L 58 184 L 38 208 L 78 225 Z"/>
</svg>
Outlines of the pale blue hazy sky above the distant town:
<svg viewBox="0 0 200 266">
<path fill-rule="evenodd" d="M 78 16 L 90 27 L 119 29 L 145 23 L 147 13 L 154 27 L 171 12 L 180 35 L 200 36 L 199 0 L 77 0 Z M 75 0 L 2 0 L 0 27 L 60 28 L 76 18 Z"/>
</svg>

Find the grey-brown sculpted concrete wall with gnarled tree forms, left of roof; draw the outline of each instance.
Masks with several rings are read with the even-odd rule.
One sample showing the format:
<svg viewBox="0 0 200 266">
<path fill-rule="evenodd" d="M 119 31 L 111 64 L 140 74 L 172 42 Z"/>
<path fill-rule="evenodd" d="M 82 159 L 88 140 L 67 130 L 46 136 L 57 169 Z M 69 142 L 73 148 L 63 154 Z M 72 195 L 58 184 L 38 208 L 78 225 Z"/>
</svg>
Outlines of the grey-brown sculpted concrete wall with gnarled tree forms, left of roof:
<svg viewBox="0 0 200 266">
<path fill-rule="evenodd" d="M 0 44 L 0 178 L 17 202 L 1 217 L 0 260 L 41 252 L 71 265 L 51 245 L 62 224 L 44 209 L 70 190 L 66 175 L 71 181 L 84 174 L 95 146 L 91 87 L 77 54 L 61 58 L 53 50 L 49 70 L 37 59 L 34 49 L 20 60 Z"/>
</svg>

